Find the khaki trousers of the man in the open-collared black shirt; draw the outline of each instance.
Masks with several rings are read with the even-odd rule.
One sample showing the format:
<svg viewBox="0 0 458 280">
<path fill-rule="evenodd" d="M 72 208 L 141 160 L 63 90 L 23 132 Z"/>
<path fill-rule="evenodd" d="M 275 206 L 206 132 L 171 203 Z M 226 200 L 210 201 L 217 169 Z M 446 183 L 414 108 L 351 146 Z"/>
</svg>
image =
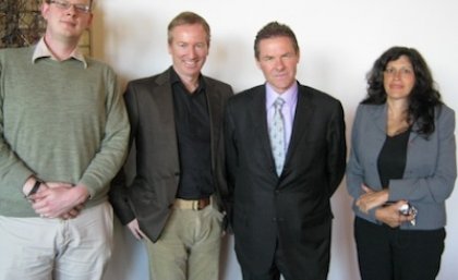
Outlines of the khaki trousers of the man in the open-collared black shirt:
<svg viewBox="0 0 458 280">
<path fill-rule="evenodd" d="M 152 280 L 218 280 L 222 214 L 173 209 L 156 243 L 146 241 Z"/>
</svg>

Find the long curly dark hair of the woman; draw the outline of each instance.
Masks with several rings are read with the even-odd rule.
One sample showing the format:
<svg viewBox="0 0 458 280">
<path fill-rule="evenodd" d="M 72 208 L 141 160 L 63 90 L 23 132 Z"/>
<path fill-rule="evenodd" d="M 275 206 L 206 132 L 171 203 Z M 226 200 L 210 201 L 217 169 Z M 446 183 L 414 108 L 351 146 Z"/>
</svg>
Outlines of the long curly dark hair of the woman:
<svg viewBox="0 0 458 280">
<path fill-rule="evenodd" d="M 409 95 L 408 122 L 417 123 L 417 133 L 427 137 L 434 130 L 434 109 L 442 105 L 441 94 L 435 88 L 435 83 L 430 68 L 420 52 L 413 48 L 391 47 L 386 50 L 367 73 L 367 96 L 361 104 L 382 105 L 386 102 L 384 87 L 384 71 L 390 61 L 407 57 L 413 68 L 415 84 Z"/>
</svg>

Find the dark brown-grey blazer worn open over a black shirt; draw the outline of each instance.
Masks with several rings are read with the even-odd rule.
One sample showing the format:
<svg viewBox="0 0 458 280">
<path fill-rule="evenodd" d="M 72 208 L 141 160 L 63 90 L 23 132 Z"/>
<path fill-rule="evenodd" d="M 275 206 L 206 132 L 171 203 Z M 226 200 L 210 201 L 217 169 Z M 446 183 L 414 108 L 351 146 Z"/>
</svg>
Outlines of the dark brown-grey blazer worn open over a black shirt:
<svg viewBox="0 0 458 280">
<path fill-rule="evenodd" d="M 170 71 L 132 81 L 124 94 L 131 123 L 130 146 L 135 143 L 136 167 L 132 184 L 121 171 L 112 182 L 110 202 L 123 224 L 134 218 L 153 241 L 159 239 L 176 198 L 180 181 L 180 162 L 173 113 Z M 229 85 L 204 76 L 210 119 L 212 173 L 216 197 L 225 210 L 227 186 L 222 119 L 227 100 L 232 96 Z"/>
</svg>

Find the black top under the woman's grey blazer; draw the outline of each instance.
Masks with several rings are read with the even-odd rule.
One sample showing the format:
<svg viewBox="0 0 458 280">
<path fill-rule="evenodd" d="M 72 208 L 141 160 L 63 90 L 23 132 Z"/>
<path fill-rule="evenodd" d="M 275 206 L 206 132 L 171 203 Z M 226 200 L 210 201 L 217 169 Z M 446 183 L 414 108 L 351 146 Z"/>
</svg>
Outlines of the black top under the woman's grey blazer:
<svg viewBox="0 0 458 280">
<path fill-rule="evenodd" d="M 385 144 L 378 155 L 377 168 L 382 186 L 387 188 L 389 180 L 402 179 L 407 161 L 407 144 L 410 129 L 394 135 L 386 135 Z"/>
</svg>

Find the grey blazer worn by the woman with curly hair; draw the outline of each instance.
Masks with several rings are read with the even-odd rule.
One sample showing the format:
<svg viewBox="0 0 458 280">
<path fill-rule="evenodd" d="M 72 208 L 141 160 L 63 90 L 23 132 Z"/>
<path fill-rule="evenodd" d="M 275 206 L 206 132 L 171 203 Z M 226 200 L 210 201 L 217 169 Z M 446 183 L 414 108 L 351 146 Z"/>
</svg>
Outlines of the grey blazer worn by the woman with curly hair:
<svg viewBox="0 0 458 280">
<path fill-rule="evenodd" d="M 386 138 L 386 105 L 360 105 L 354 118 L 350 159 L 347 166 L 347 187 L 357 199 L 364 183 L 382 190 L 377 170 L 378 154 Z M 426 139 L 410 133 L 403 178 L 389 181 L 389 200 L 409 200 L 417 209 L 417 224 L 401 229 L 433 230 L 446 224 L 445 200 L 450 196 L 457 176 L 455 112 L 443 105 L 435 110 L 435 131 Z M 354 206 L 358 217 L 372 222 L 375 209 L 365 215 Z"/>
</svg>

